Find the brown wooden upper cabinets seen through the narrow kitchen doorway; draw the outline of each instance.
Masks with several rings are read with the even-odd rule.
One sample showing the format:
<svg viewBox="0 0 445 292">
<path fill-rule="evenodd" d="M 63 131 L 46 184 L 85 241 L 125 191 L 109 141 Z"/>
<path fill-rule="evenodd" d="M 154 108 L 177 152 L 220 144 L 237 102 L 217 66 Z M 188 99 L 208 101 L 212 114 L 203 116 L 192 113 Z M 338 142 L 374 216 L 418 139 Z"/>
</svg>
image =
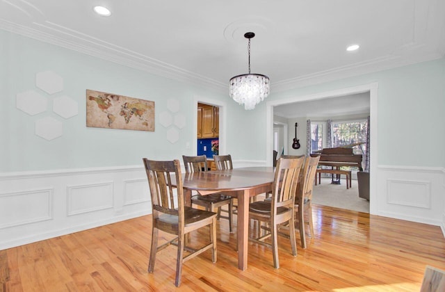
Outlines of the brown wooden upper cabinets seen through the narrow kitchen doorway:
<svg viewBox="0 0 445 292">
<path fill-rule="evenodd" d="M 219 135 L 219 108 L 207 104 L 197 107 L 197 138 L 216 138 Z"/>
</svg>

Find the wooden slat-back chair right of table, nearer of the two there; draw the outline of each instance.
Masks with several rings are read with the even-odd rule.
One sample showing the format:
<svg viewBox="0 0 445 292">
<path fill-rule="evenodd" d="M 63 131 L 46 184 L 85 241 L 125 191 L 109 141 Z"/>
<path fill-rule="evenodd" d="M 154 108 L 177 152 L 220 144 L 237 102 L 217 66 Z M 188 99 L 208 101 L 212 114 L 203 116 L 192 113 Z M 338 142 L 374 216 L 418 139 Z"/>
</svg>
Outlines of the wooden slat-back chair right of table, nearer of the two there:
<svg viewBox="0 0 445 292">
<path fill-rule="evenodd" d="M 273 266 L 275 268 L 280 268 L 277 240 L 278 225 L 284 222 L 289 225 L 292 254 L 293 256 L 297 255 L 294 207 L 298 179 L 304 160 L 303 157 L 278 159 L 270 202 L 257 201 L 249 204 L 249 219 L 257 220 L 259 223 L 265 222 L 268 225 L 268 232 L 264 234 L 258 232 L 257 238 L 250 237 L 249 240 L 272 248 Z M 266 238 L 271 238 L 271 243 L 266 242 Z"/>
</svg>

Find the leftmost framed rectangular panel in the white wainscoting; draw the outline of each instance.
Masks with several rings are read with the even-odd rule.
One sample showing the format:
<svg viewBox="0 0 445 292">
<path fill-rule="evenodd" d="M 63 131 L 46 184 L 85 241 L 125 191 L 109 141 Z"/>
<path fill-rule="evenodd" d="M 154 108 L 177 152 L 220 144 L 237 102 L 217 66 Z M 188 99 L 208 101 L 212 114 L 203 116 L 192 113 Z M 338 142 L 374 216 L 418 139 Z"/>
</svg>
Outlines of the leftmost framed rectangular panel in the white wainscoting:
<svg viewBox="0 0 445 292">
<path fill-rule="evenodd" d="M 53 189 L 0 194 L 0 229 L 51 220 Z"/>
</svg>

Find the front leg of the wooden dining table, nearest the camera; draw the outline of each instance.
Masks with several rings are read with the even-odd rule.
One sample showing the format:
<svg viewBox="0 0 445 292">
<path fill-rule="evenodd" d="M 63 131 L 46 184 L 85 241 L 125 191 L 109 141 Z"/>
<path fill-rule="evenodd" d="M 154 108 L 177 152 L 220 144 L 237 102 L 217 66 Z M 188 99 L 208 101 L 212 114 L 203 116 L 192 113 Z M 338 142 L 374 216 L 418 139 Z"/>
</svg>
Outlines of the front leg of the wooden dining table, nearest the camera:
<svg viewBox="0 0 445 292">
<path fill-rule="evenodd" d="M 249 198 L 250 190 L 238 192 L 238 268 L 248 268 L 248 243 L 249 243 Z"/>
</svg>

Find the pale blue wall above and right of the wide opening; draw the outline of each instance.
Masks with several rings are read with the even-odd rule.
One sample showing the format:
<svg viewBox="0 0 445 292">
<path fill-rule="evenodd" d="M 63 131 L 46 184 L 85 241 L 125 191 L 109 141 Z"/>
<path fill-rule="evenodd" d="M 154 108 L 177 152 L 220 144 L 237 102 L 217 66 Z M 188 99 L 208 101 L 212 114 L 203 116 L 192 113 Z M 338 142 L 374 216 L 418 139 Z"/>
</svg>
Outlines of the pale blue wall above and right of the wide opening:
<svg viewBox="0 0 445 292">
<path fill-rule="evenodd" d="M 379 165 L 444 167 L 445 58 L 270 95 L 289 99 L 378 83 Z M 265 115 L 265 113 L 263 113 Z"/>
</svg>

